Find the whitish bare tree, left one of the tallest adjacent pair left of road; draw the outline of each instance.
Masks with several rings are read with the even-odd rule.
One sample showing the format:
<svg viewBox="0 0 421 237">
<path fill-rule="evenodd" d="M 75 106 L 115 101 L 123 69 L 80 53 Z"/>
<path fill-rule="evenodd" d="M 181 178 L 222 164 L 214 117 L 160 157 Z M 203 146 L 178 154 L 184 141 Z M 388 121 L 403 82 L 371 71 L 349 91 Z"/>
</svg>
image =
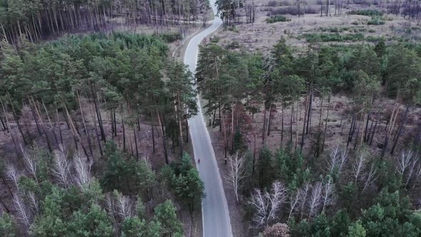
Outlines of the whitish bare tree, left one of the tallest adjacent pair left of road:
<svg viewBox="0 0 421 237">
<path fill-rule="evenodd" d="M 52 173 L 65 188 L 69 186 L 70 163 L 67 161 L 66 151 L 64 151 L 61 145 L 59 145 L 59 150 L 54 151 L 54 168 Z"/>
</svg>

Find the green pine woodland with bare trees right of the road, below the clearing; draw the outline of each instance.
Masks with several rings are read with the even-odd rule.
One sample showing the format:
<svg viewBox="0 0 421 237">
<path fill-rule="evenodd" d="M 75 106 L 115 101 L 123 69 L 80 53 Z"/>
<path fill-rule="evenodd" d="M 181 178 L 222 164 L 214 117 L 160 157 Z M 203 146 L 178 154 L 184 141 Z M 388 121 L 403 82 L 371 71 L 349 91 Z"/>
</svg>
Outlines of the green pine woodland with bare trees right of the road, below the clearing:
<svg viewBox="0 0 421 237">
<path fill-rule="evenodd" d="M 310 45 L 300 53 L 281 39 L 267 56 L 234 49 L 202 46 L 196 79 L 250 227 L 265 236 L 419 236 L 420 46 Z M 336 94 L 350 104 L 332 125 Z M 274 119 L 280 140 L 269 141 Z M 341 136 L 330 126 L 345 139 L 328 146 Z"/>
</svg>

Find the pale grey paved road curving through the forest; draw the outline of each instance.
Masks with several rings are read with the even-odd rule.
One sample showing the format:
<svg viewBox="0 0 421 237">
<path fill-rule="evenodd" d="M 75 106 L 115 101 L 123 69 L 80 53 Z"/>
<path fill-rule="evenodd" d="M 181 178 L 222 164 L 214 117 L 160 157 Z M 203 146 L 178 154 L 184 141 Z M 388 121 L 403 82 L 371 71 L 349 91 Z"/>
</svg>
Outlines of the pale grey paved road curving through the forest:
<svg viewBox="0 0 421 237">
<path fill-rule="evenodd" d="M 210 0 L 213 12 L 216 12 L 215 0 Z M 215 16 L 213 24 L 188 42 L 184 64 L 188 69 L 196 71 L 198 61 L 198 46 L 206 36 L 218 29 L 222 21 Z M 218 165 L 215 159 L 210 136 L 203 119 L 201 102 L 198 100 L 198 115 L 189 119 L 190 136 L 193 143 L 194 157 L 201 179 L 205 183 L 206 198 L 202 201 L 203 236 L 230 237 L 233 236 L 228 213 L 228 204 L 223 191 Z M 198 164 L 198 158 L 201 163 Z"/>
</svg>

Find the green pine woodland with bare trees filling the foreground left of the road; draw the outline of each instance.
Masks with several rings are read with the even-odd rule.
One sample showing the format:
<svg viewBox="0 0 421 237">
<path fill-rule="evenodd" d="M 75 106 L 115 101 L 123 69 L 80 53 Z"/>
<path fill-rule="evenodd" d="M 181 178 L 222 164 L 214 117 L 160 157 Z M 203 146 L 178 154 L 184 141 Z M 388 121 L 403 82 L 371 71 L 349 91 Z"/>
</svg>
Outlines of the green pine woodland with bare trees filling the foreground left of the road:
<svg viewBox="0 0 421 237">
<path fill-rule="evenodd" d="M 0 233 L 181 236 L 176 211 L 203 196 L 183 150 L 196 92 L 166 44 L 116 33 L 1 49 Z"/>
</svg>

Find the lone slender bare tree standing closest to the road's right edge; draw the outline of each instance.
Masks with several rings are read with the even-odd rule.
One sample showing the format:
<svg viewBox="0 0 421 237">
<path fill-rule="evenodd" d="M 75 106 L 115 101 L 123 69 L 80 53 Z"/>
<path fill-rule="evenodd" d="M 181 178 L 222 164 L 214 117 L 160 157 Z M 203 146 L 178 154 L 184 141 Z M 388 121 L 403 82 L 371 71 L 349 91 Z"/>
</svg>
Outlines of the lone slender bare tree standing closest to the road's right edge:
<svg viewBox="0 0 421 237">
<path fill-rule="evenodd" d="M 243 188 L 243 179 L 245 178 L 244 161 L 244 157 L 240 156 L 238 152 L 228 157 L 228 175 L 226 178 L 235 193 L 237 203 L 239 202 L 240 189 Z"/>
</svg>

